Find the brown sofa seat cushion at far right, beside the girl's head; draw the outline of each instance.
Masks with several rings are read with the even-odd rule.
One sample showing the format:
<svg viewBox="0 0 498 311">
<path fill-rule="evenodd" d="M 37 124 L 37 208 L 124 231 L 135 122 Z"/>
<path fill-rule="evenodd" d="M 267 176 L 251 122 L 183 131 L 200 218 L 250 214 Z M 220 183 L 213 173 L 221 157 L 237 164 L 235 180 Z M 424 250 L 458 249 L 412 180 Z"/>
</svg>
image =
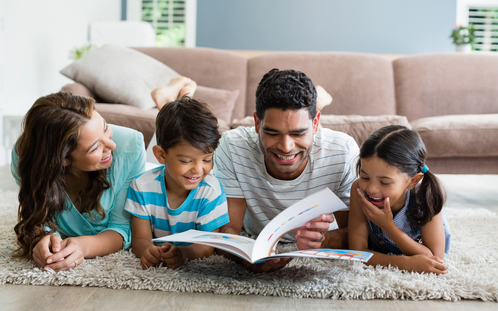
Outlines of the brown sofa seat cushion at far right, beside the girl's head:
<svg viewBox="0 0 498 311">
<path fill-rule="evenodd" d="M 411 121 L 428 158 L 498 156 L 498 114 L 456 114 Z"/>
</svg>

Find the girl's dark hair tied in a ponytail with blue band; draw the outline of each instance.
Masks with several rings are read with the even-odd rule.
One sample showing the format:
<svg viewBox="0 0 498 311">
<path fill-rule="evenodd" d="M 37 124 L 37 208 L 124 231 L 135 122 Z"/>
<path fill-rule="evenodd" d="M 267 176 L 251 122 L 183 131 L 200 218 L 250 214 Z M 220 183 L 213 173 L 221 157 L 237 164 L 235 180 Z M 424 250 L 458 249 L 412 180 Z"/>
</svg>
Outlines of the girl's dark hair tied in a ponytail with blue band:
<svg viewBox="0 0 498 311">
<path fill-rule="evenodd" d="M 361 159 L 373 157 L 378 157 L 400 172 L 413 177 L 422 170 L 427 151 L 416 131 L 402 125 L 388 125 L 373 132 L 362 143 L 356 165 L 358 175 Z M 425 172 L 422 181 L 414 190 L 419 211 L 411 217 L 411 223 L 421 227 L 441 211 L 446 201 L 446 193 L 439 179 L 430 171 Z"/>
</svg>

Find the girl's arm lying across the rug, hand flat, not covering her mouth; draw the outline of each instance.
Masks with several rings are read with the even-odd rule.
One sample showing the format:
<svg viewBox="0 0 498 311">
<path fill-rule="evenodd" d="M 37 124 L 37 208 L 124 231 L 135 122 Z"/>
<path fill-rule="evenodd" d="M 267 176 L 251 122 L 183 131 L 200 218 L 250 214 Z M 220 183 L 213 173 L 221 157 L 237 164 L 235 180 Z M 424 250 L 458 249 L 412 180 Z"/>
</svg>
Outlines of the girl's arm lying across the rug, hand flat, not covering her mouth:
<svg viewBox="0 0 498 311">
<path fill-rule="evenodd" d="M 372 258 L 367 262 L 370 266 L 396 266 L 400 270 L 416 272 L 434 272 L 445 274 L 448 266 L 432 255 L 393 256 L 374 252 L 368 249 L 370 225 L 367 217 L 360 208 L 360 196 L 356 189 L 359 188 L 358 180 L 351 186 L 351 201 L 348 221 L 348 242 L 352 250 L 372 252 Z M 363 196 L 362 196 L 363 197 Z M 404 234 L 404 233 L 403 233 Z M 406 235 L 406 234 L 405 234 Z M 417 243 L 419 244 L 419 243 Z"/>
</svg>

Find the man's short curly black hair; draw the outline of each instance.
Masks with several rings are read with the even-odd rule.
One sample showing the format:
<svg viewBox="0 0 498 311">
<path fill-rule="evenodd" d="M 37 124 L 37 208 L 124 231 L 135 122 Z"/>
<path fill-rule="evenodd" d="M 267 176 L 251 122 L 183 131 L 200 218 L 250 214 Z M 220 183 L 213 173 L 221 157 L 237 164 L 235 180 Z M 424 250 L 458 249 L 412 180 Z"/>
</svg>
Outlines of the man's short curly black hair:
<svg viewBox="0 0 498 311">
<path fill-rule="evenodd" d="M 316 89 L 305 74 L 288 69 L 268 71 L 256 89 L 256 115 L 262 120 L 268 108 L 289 109 L 307 108 L 311 119 L 316 113 Z"/>
</svg>

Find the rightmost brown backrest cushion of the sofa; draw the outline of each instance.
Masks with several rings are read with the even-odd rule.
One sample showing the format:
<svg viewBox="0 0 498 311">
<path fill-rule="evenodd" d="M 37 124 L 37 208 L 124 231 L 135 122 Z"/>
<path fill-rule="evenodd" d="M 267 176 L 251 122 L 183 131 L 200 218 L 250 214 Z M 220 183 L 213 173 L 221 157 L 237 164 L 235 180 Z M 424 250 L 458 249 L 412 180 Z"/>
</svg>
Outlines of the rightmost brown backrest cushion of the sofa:
<svg viewBox="0 0 498 311">
<path fill-rule="evenodd" d="M 410 122 L 438 115 L 498 113 L 496 55 L 415 55 L 398 58 L 392 66 L 396 114 L 406 115 Z"/>
</svg>

